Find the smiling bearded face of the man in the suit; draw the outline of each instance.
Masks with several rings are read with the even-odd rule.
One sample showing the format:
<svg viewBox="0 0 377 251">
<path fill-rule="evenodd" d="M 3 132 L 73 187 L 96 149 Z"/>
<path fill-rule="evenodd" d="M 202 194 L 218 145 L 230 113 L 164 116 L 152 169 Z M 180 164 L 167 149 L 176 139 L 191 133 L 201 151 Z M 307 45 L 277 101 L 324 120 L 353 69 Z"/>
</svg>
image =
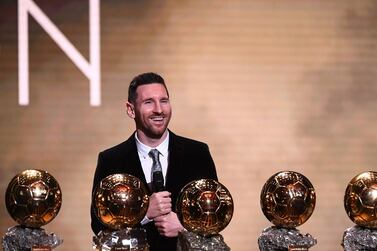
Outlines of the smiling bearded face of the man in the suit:
<svg viewBox="0 0 377 251">
<path fill-rule="evenodd" d="M 166 131 L 171 117 L 168 94 L 162 84 L 141 85 L 136 89 L 134 104 L 127 103 L 127 112 L 135 119 L 136 129 L 153 139 Z"/>
</svg>

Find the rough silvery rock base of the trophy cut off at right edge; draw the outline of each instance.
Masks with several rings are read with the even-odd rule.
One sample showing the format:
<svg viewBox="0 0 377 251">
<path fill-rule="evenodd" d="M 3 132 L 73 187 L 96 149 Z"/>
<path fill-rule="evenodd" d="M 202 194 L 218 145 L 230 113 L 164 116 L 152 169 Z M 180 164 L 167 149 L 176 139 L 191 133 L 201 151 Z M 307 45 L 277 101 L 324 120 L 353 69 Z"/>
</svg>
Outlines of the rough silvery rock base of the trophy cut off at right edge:
<svg viewBox="0 0 377 251">
<path fill-rule="evenodd" d="M 344 251 L 377 250 L 377 230 L 354 226 L 346 229 L 342 244 Z"/>
</svg>

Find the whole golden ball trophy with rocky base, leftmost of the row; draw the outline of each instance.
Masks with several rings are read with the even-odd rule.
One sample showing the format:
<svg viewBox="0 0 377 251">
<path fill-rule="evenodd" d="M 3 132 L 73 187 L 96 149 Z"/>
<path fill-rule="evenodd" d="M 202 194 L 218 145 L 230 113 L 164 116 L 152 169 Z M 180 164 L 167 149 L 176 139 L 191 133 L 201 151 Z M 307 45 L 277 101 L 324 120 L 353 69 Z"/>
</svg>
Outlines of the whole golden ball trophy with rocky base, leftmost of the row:
<svg viewBox="0 0 377 251">
<path fill-rule="evenodd" d="M 41 228 L 56 217 L 62 204 L 59 184 L 48 172 L 30 169 L 17 174 L 6 190 L 5 204 L 19 225 L 3 236 L 4 251 L 49 251 L 63 242 Z"/>
</svg>

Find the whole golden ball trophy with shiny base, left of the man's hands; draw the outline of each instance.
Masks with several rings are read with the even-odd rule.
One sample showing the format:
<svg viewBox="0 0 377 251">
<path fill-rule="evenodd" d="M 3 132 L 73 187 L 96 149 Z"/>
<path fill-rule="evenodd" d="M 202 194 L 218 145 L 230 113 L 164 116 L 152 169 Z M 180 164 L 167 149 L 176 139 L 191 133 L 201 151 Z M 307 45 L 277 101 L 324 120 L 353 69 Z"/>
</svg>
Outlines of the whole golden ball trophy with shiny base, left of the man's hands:
<svg viewBox="0 0 377 251">
<path fill-rule="evenodd" d="M 148 210 L 144 184 L 129 174 L 109 175 L 94 191 L 96 216 L 107 227 L 93 237 L 98 251 L 148 251 L 145 229 L 134 227 Z"/>
</svg>

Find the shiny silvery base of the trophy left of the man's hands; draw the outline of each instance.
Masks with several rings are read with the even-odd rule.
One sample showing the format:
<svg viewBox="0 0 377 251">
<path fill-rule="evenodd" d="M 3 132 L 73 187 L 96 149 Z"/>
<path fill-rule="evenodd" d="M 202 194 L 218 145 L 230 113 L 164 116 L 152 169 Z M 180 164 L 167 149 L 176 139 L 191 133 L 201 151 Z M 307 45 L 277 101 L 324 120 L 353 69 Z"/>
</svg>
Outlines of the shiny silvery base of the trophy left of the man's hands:
<svg viewBox="0 0 377 251">
<path fill-rule="evenodd" d="M 101 231 L 93 237 L 96 251 L 149 251 L 147 233 L 142 228 Z"/>
</svg>

